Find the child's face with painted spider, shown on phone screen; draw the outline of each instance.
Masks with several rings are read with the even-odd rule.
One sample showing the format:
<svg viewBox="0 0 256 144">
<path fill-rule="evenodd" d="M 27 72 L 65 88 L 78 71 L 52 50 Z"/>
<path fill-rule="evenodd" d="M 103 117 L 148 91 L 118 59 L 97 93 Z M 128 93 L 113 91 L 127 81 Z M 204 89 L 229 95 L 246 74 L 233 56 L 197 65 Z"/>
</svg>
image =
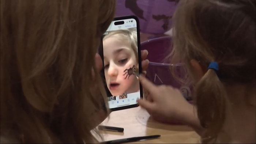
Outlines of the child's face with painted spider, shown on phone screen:
<svg viewBox="0 0 256 144">
<path fill-rule="evenodd" d="M 114 96 L 124 94 L 124 92 L 135 86 L 136 81 L 138 81 L 135 73 L 127 72 L 130 68 L 134 72 L 138 68 L 138 62 L 131 48 L 131 43 L 118 36 L 113 35 L 103 40 L 106 84 Z"/>
</svg>

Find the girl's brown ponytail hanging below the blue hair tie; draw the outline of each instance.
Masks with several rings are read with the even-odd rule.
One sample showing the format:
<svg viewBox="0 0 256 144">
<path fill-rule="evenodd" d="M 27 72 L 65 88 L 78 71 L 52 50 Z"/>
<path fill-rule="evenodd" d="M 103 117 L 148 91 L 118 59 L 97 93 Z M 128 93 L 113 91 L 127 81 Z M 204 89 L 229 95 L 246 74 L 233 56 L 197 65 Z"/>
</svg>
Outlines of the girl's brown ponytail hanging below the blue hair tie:
<svg viewBox="0 0 256 144">
<path fill-rule="evenodd" d="M 206 128 L 202 135 L 203 143 L 217 138 L 225 120 L 226 90 L 218 78 L 218 69 L 210 66 L 196 85 L 197 114 L 200 124 Z"/>
</svg>

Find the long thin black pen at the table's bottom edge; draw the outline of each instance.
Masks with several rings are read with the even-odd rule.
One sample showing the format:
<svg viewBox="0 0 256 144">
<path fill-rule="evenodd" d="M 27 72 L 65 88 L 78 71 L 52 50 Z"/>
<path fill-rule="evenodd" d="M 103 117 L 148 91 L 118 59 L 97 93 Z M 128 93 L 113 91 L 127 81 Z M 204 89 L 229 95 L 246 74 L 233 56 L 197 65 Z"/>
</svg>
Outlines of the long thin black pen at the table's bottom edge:
<svg viewBox="0 0 256 144">
<path fill-rule="evenodd" d="M 130 137 L 130 138 L 127 138 L 127 139 L 103 141 L 102 144 L 131 143 L 131 142 L 134 142 L 134 141 L 146 140 L 146 139 L 155 139 L 155 138 L 158 138 L 158 137 L 161 137 L 161 135 Z"/>
</svg>

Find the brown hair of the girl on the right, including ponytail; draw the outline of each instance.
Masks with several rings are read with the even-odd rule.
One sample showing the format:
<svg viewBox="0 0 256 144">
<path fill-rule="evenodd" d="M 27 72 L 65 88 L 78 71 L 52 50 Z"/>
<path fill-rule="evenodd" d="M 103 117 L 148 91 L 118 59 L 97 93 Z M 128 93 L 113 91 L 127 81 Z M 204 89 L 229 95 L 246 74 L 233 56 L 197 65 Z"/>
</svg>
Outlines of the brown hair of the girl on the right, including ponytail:
<svg viewBox="0 0 256 144">
<path fill-rule="evenodd" d="M 196 85 L 197 114 L 206 128 L 203 143 L 218 136 L 225 120 L 225 86 L 255 86 L 255 0 L 181 0 L 174 15 L 174 57 L 209 69 Z"/>
</svg>

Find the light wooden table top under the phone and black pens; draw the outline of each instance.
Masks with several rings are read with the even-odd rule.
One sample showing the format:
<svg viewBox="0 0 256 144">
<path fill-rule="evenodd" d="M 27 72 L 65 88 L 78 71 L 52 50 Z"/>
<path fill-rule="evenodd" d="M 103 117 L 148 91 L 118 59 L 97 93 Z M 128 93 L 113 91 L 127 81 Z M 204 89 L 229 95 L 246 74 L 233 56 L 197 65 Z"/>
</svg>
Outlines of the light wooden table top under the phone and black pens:
<svg viewBox="0 0 256 144">
<path fill-rule="evenodd" d="M 161 137 L 158 139 L 134 143 L 200 143 L 199 135 L 192 128 L 156 122 L 141 107 L 114 111 L 102 122 L 102 125 L 124 128 L 123 133 L 100 131 L 104 141 L 160 134 Z"/>
</svg>

